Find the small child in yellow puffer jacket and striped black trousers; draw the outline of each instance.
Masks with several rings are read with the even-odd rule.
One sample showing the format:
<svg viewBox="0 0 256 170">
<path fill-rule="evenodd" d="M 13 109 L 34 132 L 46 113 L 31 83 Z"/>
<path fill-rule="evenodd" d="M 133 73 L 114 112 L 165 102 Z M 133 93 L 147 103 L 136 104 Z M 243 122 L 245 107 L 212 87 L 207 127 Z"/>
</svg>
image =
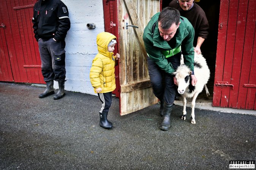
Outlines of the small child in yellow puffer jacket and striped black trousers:
<svg viewBox="0 0 256 170">
<path fill-rule="evenodd" d="M 98 54 L 92 61 L 90 80 L 94 92 L 98 93 L 102 107 L 100 110 L 100 126 L 112 128 L 107 120 L 107 114 L 112 104 L 112 91 L 115 90 L 115 63 L 120 58 L 117 53 L 114 56 L 116 37 L 109 32 L 101 32 L 97 35 Z"/>
</svg>

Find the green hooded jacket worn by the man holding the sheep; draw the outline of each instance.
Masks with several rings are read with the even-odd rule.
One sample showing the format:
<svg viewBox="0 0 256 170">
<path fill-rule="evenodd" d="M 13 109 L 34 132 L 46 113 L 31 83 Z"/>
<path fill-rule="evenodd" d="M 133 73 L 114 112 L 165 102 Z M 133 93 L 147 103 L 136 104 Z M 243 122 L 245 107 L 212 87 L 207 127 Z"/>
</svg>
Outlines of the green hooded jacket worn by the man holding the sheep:
<svg viewBox="0 0 256 170">
<path fill-rule="evenodd" d="M 156 13 L 148 25 L 145 27 L 143 32 L 143 40 L 145 49 L 148 56 L 166 73 L 175 72 L 172 64 L 168 62 L 166 57 L 163 55 L 163 51 L 172 51 L 172 48 L 169 46 L 168 42 L 160 36 L 158 29 L 158 16 L 160 12 Z M 175 48 L 181 46 L 181 51 L 184 58 L 184 63 L 190 69 L 194 70 L 194 28 L 191 23 L 185 17 L 180 17 L 180 26 L 175 33 L 176 44 Z M 156 23 L 156 24 L 155 24 Z M 155 28 L 152 29 L 155 25 Z M 153 32 L 152 32 L 153 31 Z M 174 49 L 175 49 L 174 48 Z"/>
</svg>

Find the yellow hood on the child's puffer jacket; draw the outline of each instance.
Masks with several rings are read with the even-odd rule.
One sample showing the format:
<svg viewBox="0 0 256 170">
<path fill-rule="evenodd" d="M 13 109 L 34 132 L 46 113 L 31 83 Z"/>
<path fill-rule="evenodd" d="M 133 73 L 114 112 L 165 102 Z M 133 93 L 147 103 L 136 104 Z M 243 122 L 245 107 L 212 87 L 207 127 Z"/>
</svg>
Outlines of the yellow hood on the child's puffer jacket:
<svg viewBox="0 0 256 170">
<path fill-rule="evenodd" d="M 107 51 L 107 45 L 112 39 L 116 39 L 113 34 L 109 32 L 101 32 L 97 35 L 97 46 L 99 53 L 103 54 L 106 57 L 112 57 L 113 52 Z"/>
</svg>

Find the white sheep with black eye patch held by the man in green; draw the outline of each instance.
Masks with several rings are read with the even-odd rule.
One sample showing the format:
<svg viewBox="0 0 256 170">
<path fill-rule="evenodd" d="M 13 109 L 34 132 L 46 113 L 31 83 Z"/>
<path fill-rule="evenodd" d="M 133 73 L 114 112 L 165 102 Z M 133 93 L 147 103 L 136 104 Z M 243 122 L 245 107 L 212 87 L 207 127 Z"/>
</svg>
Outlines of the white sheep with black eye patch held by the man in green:
<svg viewBox="0 0 256 170">
<path fill-rule="evenodd" d="M 192 71 L 185 64 L 180 65 L 177 70 L 173 73 L 177 80 L 178 93 L 183 97 L 183 113 L 181 119 L 186 119 L 186 97 L 192 98 L 191 102 L 191 124 L 196 124 L 194 107 L 196 104 L 196 97 L 205 88 L 207 96 L 209 91 L 206 86 L 210 78 L 210 70 L 202 54 L 194 54 L 194 75 L 198 80 L 195 86 L 191 85 Z"/>
</svg>

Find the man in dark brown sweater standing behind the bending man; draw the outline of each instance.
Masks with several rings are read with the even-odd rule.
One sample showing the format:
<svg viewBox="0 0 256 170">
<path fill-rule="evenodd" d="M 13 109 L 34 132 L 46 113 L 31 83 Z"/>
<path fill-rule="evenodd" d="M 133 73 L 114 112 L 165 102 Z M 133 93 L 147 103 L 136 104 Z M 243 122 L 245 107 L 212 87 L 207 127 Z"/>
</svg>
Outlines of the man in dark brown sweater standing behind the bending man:
<svg viewBox="0 0 256 170">
<path fill-rule="evenodd" d="M 209 23 L 204 10 L 194 3 L 194 0 L 172 0 L 169 3 L 169 7 L 178 9 L 180 15 L 190 21 L 195 30 L 194 51 L 197 54 L 201 54 L 201 45 L 209 34 Z"/>
</svg>

